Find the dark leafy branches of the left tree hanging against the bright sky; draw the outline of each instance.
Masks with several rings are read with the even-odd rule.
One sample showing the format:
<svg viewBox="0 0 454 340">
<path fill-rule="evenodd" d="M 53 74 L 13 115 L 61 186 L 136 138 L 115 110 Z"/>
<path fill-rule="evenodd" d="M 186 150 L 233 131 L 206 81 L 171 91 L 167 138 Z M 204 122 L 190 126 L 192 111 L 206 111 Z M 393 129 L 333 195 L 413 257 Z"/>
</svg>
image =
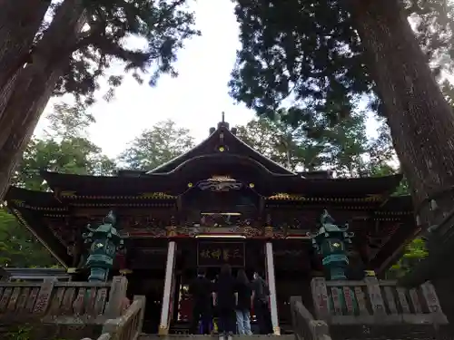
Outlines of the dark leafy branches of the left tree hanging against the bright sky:
<svg viewBox="0 0 454 340">
<path fill-rule="evenodd" d="M 68 0 L 62 3 L 65 1 Z M 73 46 L 64 77 L 54 93 L 73 93 L 76 99 L 90 104 L 105 70 L 119 63 L 141 83 L 146 73 L 151 74 L 150 84 L 156 83 L 162 73 L 177 75 L 173 68 L 177 51 L 185 40 L 199 34 L 193 28 L 194 16 L 186 3 L 186 0 L 84 0 L 87 30 Z M 58 10 L 59 5 L 55 7 Z M 44 30 L 42 35 L 45 34 Z M 123 74 L 108 76 L 107 97 L 123 82 Z"/>
</svg>

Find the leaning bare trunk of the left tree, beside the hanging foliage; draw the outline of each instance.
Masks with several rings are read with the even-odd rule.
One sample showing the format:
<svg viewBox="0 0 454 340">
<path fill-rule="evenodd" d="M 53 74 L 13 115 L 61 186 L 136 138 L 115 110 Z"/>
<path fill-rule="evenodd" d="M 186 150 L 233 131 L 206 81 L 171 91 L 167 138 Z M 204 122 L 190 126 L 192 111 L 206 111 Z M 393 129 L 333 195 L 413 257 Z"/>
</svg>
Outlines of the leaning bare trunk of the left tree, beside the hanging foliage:
<svg viewBox="0 0 454 340">
<path fill-rule="evenodd" d="M 16 76 L 11 95 L 0 107 L 0 199 L 55 85 L 64 74 L 71 48 L 84 24 L 81 0 L 65 0 L 36 45 L 33 63 Z"/>
</svg>

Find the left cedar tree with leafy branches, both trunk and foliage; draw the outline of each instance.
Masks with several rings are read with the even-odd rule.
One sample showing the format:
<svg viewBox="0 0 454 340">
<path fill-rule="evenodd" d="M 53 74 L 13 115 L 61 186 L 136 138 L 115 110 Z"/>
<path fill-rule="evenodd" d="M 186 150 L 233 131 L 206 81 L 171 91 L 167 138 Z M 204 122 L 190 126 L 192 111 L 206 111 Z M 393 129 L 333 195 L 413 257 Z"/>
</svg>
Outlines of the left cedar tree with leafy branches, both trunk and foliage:
<svg viewBox="0 0 454 340">
<path fill-rule="evenodd" d="M 150 83 L 161 73 L 176 75 L 176 51 L 198 34 L 185 2 L 64 0 L 55 6 L 29 61 L 15 73 L 13 90 L 0 99 L 0 198 L 52 94 L 69 92 L 80 102 L 93 102 L 97 79 L 113 61 L 123 62 L 139 81 L 148 67 L 153 71 Z M 142 37 L 146 47 L 126 47 L 131 35 Z M 112 86 L 121 81 L 121 75 L 109 79 Z"/>
</svg>

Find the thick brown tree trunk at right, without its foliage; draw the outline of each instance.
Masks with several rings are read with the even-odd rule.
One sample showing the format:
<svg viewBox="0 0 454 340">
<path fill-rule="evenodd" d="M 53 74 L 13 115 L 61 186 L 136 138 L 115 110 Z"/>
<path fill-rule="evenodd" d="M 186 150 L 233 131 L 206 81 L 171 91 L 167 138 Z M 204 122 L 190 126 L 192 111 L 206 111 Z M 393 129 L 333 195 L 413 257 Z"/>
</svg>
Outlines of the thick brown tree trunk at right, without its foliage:
<svg viewBox="0 0 454 340">
<path fill-rule="evenodd" d="M 422 228 L 454 207 L 454 115 L 399 0 L 346 0 Z M 431 203 L 430 203 L 431 202 Z M 434 202 L 436 204 L 434 204 Z M 438 209 L 433 209 L 435 206 Z"/>
</svg>

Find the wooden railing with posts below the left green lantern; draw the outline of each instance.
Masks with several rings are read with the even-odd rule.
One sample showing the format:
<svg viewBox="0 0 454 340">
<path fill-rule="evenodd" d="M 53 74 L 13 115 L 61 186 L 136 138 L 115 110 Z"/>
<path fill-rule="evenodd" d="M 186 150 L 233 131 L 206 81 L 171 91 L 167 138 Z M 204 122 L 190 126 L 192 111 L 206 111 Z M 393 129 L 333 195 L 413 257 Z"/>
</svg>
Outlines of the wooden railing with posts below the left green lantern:
<svg viewBox="0 0 454 340">
<path fill-rule="evenodd" d="M 0 323 L 45 323 L 59 325 L 104 325 L 120 316 L 127 281 L 0 282 Z"/>
</svg>

